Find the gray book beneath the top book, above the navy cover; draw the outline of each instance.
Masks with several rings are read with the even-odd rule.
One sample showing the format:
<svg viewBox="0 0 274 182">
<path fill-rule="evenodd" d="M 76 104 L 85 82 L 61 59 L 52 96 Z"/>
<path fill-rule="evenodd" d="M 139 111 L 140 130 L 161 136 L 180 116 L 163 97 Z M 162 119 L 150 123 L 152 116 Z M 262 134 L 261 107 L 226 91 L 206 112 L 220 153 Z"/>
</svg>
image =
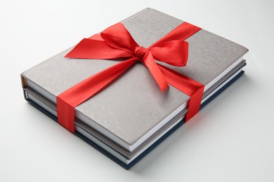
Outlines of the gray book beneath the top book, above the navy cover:
<svg viewBox="0 0 274 182">
<path fill-rule="evenodd" d="M 242 72 L 242 67 L 245 65 L 245 61 L 243 60 L 235 66 L 231 71 L 229 71 L 225 76 L 223 76 L 218 82 L 216 82 L 214 85 L 212 85 L 206 92 L 203 94 L 202 99 L 202 105 L 204 105 L 204 102 L 207 103 L 207 99 L 209 101 L 211 100 L 210 97 L 218 93 L 219 90 L 223 89 L 223 86 L 227 83 L 230 83 L 230 80 L 234 80 L 235 77 L 237 77 Z M 53 120 L 57 119 L 57 112 L 56 112 L 56 104 L 49 101 L 45 97 L 41 96 L 41 94 L 35 92 L 30 87 L 24 88 L 25 98 L 27 101 L 30 102 L 30 100 L 39 106 L 41 106 L 43 109 L 51 113 Z M 83 134 L 85 137 L 87 137 L 89 140 L 93 141 L 94 143 L 98 144 L 98 146 L 102 147 L 107 151 L 108 153 L 111 153 L 116 158 L 121 160 L 122 162 L 129 164 L 134 159 L 138 158 L 139 155 L 141 155 L 143 152 L 146 151 L 147 148 L 152 146 L 155 142 L 158 141 L 159 138 L 164 136 L 169 130 L 171 130 L 173 127 L 176 126 L 179 122 L 181 123 L 181 120 L 185 113 L 187 112 L 187 108 L 183 109 L 183 111 L 180 111 L 174 118 L 169 120 L 167 124 L 165 124 L 163 127 L 161 127 L 157 132 L 152 134 L 151 137 L 146 139 L 143 144 L 138 146 L 133 151 L 127 151 L 126 149 L 122 148 L 121 146 L 117 145 L 114 141 L 108 139 L 103 134 L 100 134 L 96 130 L 93 130 L 92 127 L 89 127 L 81 120 L 75 118 L 74 125 L 75 130 L 81 134 Z M 44 111 L 43 111 L 44 112 Z M 47 114 L 48 115 L 48 114 Z"/>
</svg>

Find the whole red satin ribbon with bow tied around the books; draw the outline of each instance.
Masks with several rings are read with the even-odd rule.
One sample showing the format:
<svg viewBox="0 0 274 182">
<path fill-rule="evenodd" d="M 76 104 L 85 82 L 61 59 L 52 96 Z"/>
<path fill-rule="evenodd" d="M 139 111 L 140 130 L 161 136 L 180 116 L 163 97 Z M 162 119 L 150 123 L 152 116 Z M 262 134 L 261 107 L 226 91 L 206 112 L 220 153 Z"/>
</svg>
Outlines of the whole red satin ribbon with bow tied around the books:
<svg viewBox="0 0 274 182">
<path fill-rule="evenodd" d="M 74 108 L 102 90 L 137 61 L 148 67 L 162 91 L 166 90 L 170 84 L 190 96 L 188 113 L 185 118 L 185 122 L 188 121 L 200 109 L 204 85 L 166 66 L 157 64 L 155 59 L 173 66 L 185 66 L 188 61 L 188 42 L 184 40 L 199 30 L 199 27 L 184 22 L 148 48 L 138 45 L 122 23 L 112 25 L 100 35 L 84 38 L 65 57 L 126 58 L 126 60 L 86 78 L 59 94 L 56 99 L 58 123 L 74 133 Z"/>
</svg>

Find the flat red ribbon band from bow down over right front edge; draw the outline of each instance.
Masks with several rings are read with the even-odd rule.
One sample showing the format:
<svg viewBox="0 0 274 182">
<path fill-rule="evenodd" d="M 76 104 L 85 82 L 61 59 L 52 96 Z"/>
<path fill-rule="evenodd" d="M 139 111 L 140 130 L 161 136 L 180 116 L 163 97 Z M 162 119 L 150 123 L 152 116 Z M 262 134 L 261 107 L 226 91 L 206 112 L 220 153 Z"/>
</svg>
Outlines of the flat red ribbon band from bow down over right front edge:
<svg viewBox="0 0 274 182">
<path fill-rule="evenodd" d="M 204 85 L 189 78 L 188 76 L 184 76 L 181 73 L 169 69 L 166 66 L 162 66 L 160 64 L 158 64 L 158 66 L 170 85 L 190 96 L 188 113 L 185 117 L 185 122 L 187 122 L 200 110 L 202 94 L 204 93 Z"/>
</svg>

